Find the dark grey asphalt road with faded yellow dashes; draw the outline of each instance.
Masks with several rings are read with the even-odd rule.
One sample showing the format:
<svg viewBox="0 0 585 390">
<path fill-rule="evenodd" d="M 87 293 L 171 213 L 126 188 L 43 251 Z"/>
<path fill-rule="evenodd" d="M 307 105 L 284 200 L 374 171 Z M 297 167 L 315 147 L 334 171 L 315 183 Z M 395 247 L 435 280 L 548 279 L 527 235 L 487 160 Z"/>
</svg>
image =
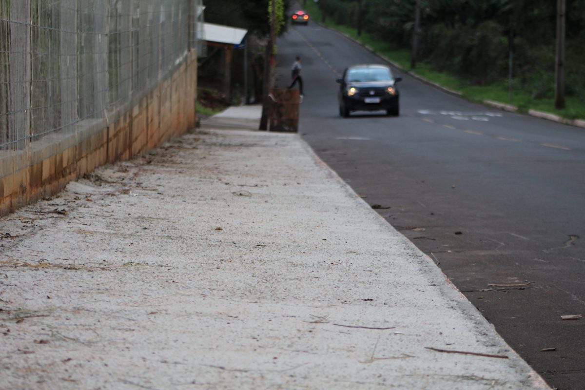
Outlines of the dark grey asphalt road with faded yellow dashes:
<svg viewBox="0 0 585 390">
<path fill-rule="evenodd" d="M 290 26 L 278 86 L 297 55 L 300 132 L 316 153 L 553 388 L 585 388 L 585 319 L 561 319 L 585 316 L 585 130 L 470 103 L 400 71 L 400 117 L 343 119 L 335 79 L 382 60 L 316 23 Z"/>
</svg>

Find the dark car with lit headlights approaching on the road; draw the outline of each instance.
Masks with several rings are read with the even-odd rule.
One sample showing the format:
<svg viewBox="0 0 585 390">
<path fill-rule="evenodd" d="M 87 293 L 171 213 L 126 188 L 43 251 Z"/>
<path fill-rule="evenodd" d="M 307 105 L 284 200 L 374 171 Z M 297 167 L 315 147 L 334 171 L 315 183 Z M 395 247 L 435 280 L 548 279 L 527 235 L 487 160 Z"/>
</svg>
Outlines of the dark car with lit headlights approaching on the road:
<svg viewBox="0 0 585 390">
<path fill-rule="evenodd" d="M 387 115 L 400 115 L 400 94 L 394 77 L 386 65 L 355 65 L 338 78 L 339 115 L 347 118 L 352 111 L 386 110 Z"/>
</svg>

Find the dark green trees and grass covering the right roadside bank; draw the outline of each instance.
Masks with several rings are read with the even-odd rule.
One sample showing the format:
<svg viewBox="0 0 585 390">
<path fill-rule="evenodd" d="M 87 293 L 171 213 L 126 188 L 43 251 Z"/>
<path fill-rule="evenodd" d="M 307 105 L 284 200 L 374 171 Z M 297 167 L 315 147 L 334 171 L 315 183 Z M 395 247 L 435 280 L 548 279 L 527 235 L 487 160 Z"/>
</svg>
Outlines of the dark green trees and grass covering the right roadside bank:
<svg viewBox="0 0 585 390">
<path fill-rule="evenodd" d="M 407 71 L 471 101 L 484 99 L 569 119 L 585 118 L 585 0 L 567 1 L 566 108 L 554 108 L 556 2 L 545 0 L 421 0 L 421 50 L 410 67 L 414 1 L 362 0 L 364 31 L 357 35 L 357 0 L 307 1 L 312 19 L 339 30 Z M 321 7 L 321 8 L 319 8 Z M 512 88 L 508 38 L 514 39 Z"/>
</svg>

